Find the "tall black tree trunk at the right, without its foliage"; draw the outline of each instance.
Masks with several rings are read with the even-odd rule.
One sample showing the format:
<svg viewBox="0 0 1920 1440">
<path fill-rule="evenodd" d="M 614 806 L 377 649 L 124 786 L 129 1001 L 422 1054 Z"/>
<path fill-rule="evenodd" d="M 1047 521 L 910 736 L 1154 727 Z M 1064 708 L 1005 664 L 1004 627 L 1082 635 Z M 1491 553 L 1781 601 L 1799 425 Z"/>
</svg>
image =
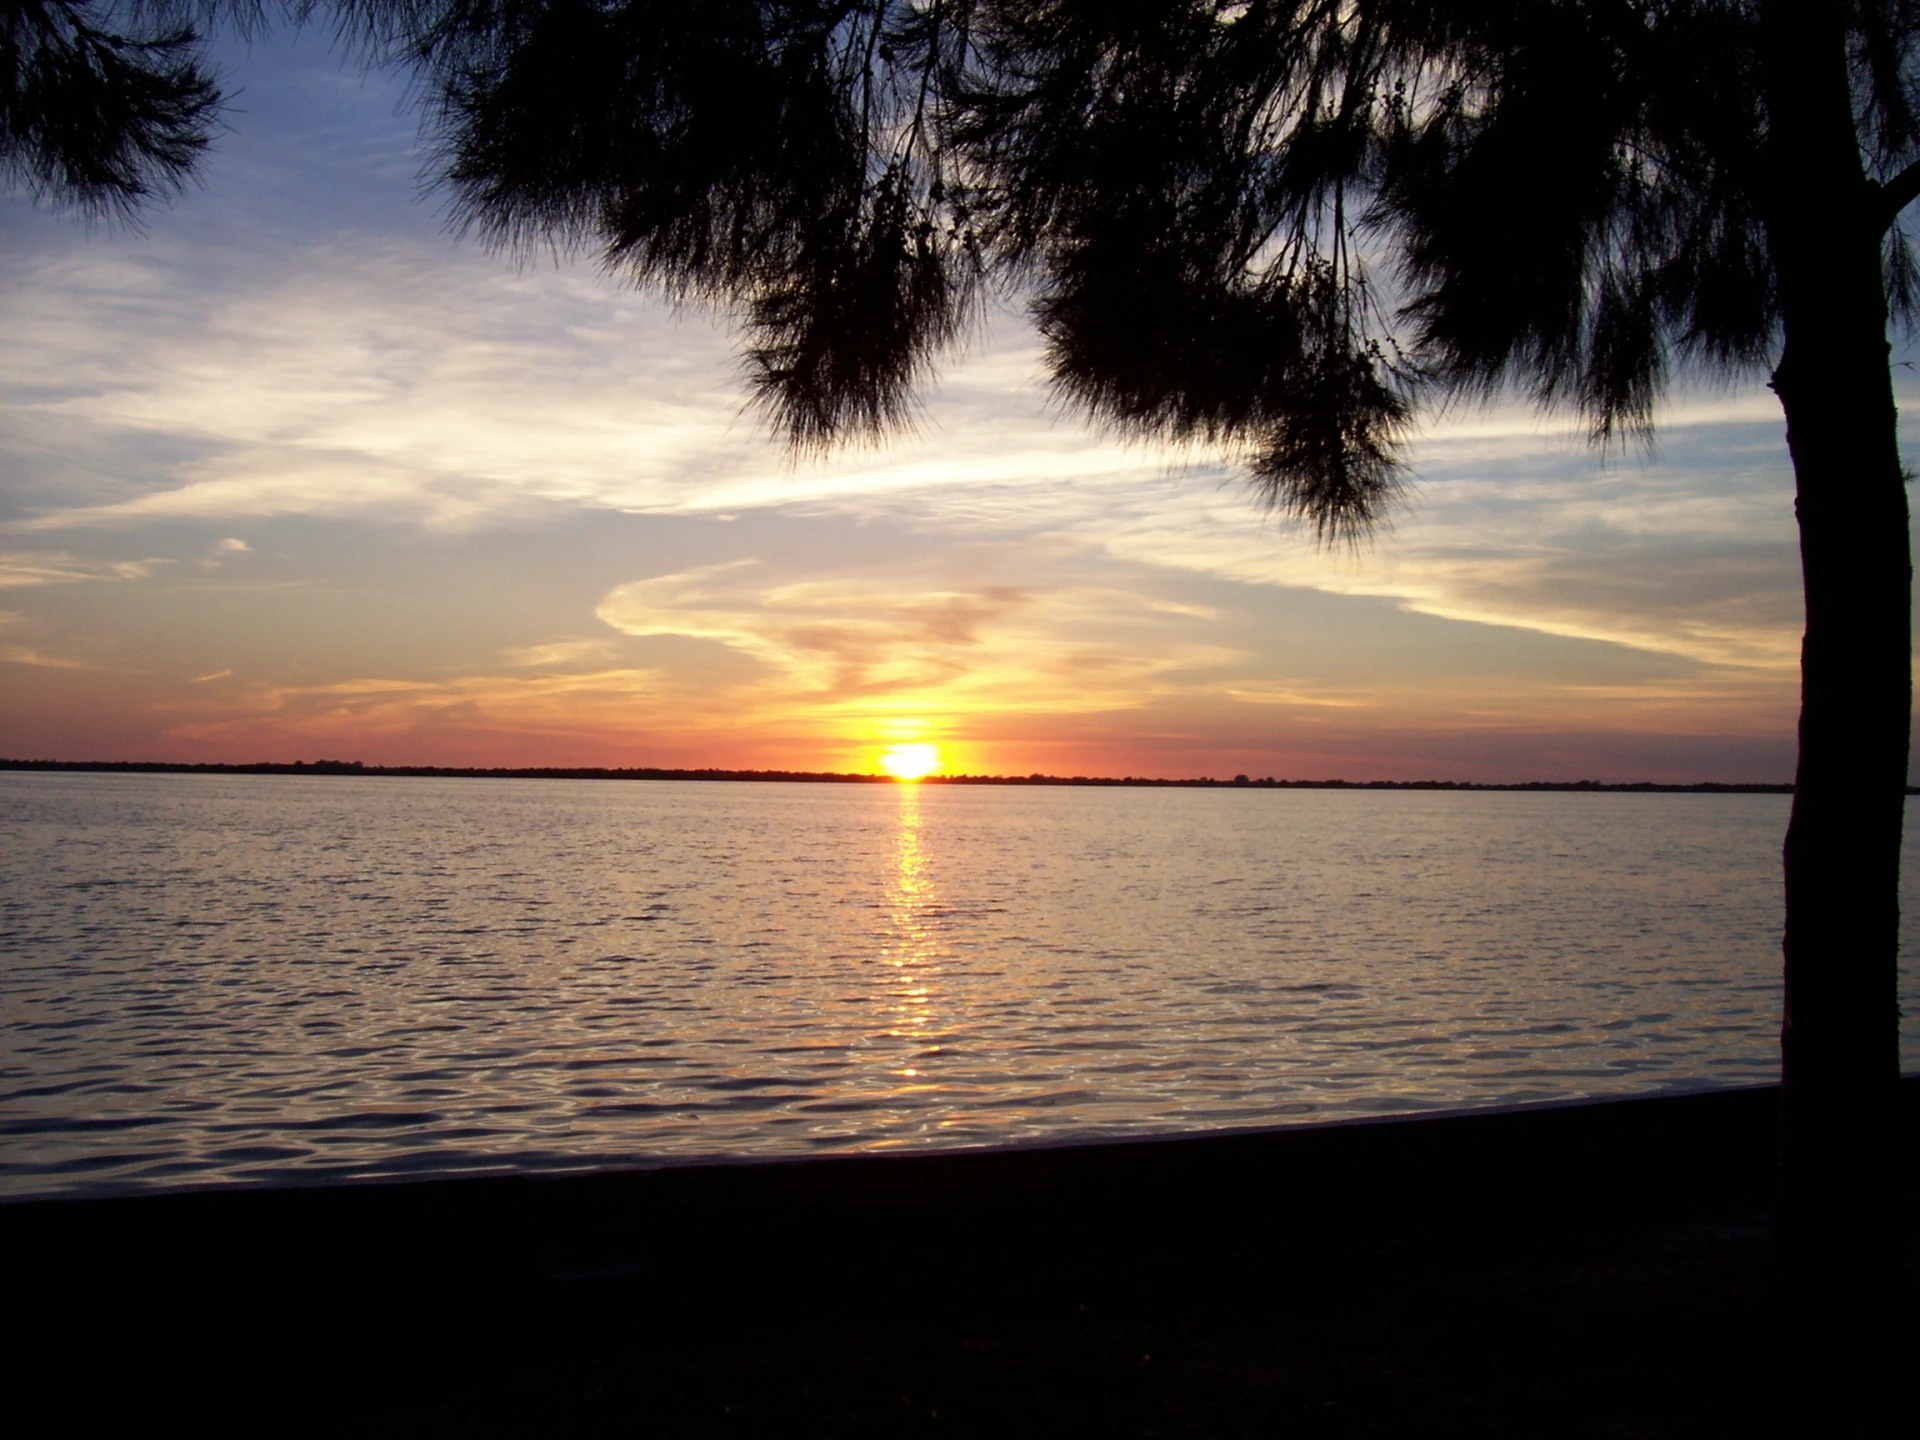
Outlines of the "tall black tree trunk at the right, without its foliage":
<svg viewBox="0 0 1920 1440">
<path fill-rule="evenodd" d="M 1768 246 L 1807 593 L 1786 839 L 1780 1240 L 1788 1300 L 1836 1363 L 1897 1265 L 1899 870 L 1912 561 L 1878 188 L 1853 129 L 1839 4 L 1763 4 Z M 1839 1327 L 1839 1329 L 1832 1329 Z M 1853 1369 L 1853 1365 L 1849 1365 Z M 1839 1380 L 1839 1377 L 1834 1377 Z M 1859 1377 L 1857 1377 L 1859 1379 Z"/>
</svg>

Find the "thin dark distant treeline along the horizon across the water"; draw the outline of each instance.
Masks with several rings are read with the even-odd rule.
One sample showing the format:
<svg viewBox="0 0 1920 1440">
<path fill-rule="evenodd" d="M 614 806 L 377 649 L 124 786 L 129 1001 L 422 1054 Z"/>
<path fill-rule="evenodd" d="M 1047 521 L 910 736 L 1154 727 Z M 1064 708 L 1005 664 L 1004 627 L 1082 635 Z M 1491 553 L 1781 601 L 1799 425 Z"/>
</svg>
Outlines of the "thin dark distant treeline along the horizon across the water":
<svg viewBox="0 0 1920 1440">
<path fill-rule="evenodd" d="M 361 760 L 292 760 L 255 764 L 177 764 L 171 760 L 6 760 L 0 770 L 94 770 L 142 776 L 438 776 L 445 780 L 781 780 L 818 785 L 897 785 L 893 776 L 854 776 L 824 770 L 660 770 L 632 766 L 453 766 L 453 764 L 363 764 Z M 1659 785 L 1649 780 L 1615 785 L 1599 780 L 1528 780 L 1509 785 L 1473 780 L 1275 780 L 1273 776 L 1213 780 L 1146 780 L 1140 776 L 927 776 L 920 785 L 1142 785 L 1173 789 L 1467 789 L 1467 791 L 1594 791 L 1630 795 L 1791 795 L 1791 785 Z M 1908 785 L 1908 795 L 1920 787 Z"/>
</svg>

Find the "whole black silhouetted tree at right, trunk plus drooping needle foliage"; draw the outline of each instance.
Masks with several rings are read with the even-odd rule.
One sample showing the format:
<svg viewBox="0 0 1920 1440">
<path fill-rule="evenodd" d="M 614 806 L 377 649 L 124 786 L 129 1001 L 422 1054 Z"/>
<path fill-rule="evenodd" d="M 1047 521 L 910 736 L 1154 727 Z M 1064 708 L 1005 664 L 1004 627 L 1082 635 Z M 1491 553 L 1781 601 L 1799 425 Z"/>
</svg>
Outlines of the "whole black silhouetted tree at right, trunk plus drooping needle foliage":
<svg viewBox="0 0 1920 1440">
<path fill-rule="evenodd" d="M 1891 1223 L 1910 718 L 1889 319 L 1920 192 L 1908 0 L 445 0 L 351 10 L 430 81 L 503 244 L 745 328 L 795 445 L 885 432 L 993 286 L 1058 392 L 1238 455 L 1323 540 L 1421 403 L 1596 442 L 1678 369 L 1768 374 L 1807 597 L 1786 841 L 1784 1210 Z M 1870 1238 L 1868 1238 L 1870 1236 Z"/>
</svg>

